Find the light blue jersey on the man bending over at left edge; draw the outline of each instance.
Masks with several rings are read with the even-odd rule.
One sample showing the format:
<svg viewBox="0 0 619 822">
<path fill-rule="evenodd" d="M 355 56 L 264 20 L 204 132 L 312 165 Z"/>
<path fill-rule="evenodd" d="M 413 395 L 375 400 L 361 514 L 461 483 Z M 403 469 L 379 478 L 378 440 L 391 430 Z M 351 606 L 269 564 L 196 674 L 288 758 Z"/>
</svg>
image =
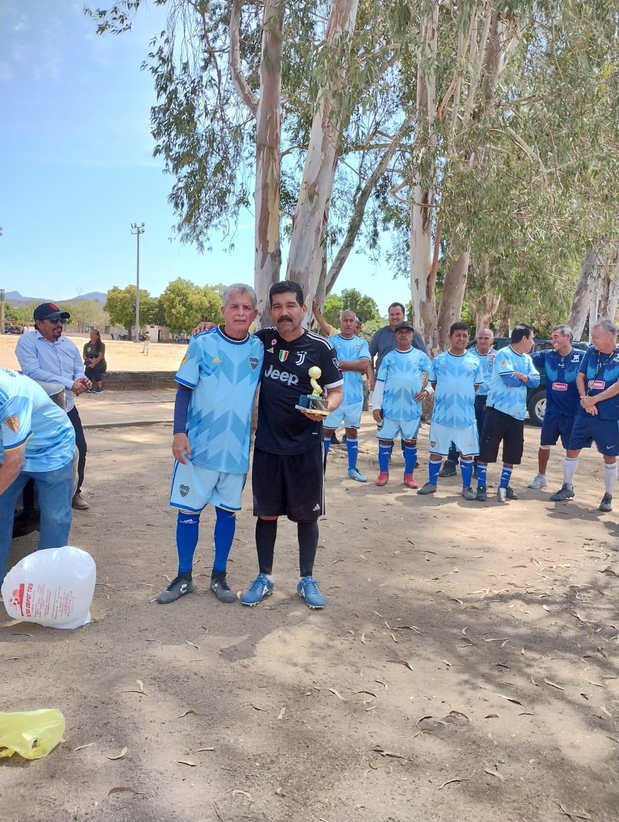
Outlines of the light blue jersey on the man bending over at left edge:
<svg viewBox="0 0 619 822">
<path fill-rule="evenodd" d="M 24 470 L 57 471 L 72 462 L 71 421 L 30 377 L 0 368 L 0 463 L 4 452 L 26 443 Z"/>
</svg>

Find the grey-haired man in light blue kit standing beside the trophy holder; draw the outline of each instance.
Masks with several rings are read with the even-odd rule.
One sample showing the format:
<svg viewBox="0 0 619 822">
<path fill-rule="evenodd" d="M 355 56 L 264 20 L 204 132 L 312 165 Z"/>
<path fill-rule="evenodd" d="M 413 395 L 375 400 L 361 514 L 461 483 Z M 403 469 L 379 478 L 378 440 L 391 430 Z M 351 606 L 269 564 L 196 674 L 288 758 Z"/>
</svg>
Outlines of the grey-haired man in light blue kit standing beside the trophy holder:
<svg viewBox="0 0 619 822">
<path fill-rule="evenodd" d="M 225 324 L 193 336 L 176 372 L 170 506 L 179 509 L 179 570 L 157 598 L 161 604 L 194 590 L 193 553 L 200 514 L 208 504 L 216 511 L 210 588 L 222 603 L 236 599 L 226 579 L 226 563 L 249 471 L 251 413 L 264 358 L 262 342 L 249 334 L 258 314 L 256 302 L 249 285 L 230 285 L 221 305 Z"/>
</svg>

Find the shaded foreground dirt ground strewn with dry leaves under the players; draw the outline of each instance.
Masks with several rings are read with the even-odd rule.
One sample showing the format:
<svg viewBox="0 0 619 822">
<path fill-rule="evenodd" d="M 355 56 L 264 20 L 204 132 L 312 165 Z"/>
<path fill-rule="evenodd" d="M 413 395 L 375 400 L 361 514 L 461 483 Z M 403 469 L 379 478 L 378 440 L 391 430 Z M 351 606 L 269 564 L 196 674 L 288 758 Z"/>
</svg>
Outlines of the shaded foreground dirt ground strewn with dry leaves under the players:
<svg viewBox="0 0 619 822">
<path fill-rule="evenodd" d="M 374 436 L 365 414 L 370 480 Z M 67 719 L 45 759 L 2 760 L 0 819 L 617 820 L 617 510 L 597 510 L 603 463 L 589 452 L 575 501 L 547 500 L 558 451 L 550 489 L 528 491 L 538 429 L 526 440 L 519 501 L 485 506 L 458 496 L 459 478 L 430 498 L 407 490 L 399 454 L 386 487 L 354 483 L 333 449 L 315 569 L 327 607 L 309 612 L 287 521 L 272 597 L 216 602 L 210 510 L 197 592 L 153 602 L 175 575 L 171 427 L 89 431 L 91 509 L 72 544 L 97 563 L 95 621 L 0 620 L 3 709 Z M 250 494 L 236 589 L 256 573 Z M 12 560 L 34 547 L 16 541 Z"/>
</svg>

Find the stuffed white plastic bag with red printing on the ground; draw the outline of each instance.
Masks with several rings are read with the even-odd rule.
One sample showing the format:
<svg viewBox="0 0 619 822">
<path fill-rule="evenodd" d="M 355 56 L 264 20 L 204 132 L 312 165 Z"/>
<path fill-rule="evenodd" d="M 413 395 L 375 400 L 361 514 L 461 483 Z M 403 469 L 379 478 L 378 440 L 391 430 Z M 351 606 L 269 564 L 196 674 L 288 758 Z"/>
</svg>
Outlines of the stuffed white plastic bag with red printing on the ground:
<svg viewBox="0 0 619 822">
<path fill-rule="evenodd" d="M 66 545 L 35 551 L 13 566 L 2 583 L 7 614 L 50 628 L 79 628 L 91 621 L 96 566 L 91 555 Z"/>
</svg>

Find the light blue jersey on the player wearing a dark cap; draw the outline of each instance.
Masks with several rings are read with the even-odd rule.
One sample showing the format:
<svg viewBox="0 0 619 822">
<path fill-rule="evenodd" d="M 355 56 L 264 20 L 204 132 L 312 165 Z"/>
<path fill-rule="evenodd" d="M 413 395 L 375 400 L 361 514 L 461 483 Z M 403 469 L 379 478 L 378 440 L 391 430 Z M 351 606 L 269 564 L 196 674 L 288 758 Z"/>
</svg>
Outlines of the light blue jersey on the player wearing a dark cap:
<svg viewBox="0 0 619 822">
<path fill-rule="evenodd" d="M 421 374 L 430 374 L 431 361 L 419 349 L 386 353 L 380 363 L 377 381 L 384 382 L 383 417 L 410 420 L 421 417 L 421 403 L 414 396 L 421 391 Z"/>
</svg>

